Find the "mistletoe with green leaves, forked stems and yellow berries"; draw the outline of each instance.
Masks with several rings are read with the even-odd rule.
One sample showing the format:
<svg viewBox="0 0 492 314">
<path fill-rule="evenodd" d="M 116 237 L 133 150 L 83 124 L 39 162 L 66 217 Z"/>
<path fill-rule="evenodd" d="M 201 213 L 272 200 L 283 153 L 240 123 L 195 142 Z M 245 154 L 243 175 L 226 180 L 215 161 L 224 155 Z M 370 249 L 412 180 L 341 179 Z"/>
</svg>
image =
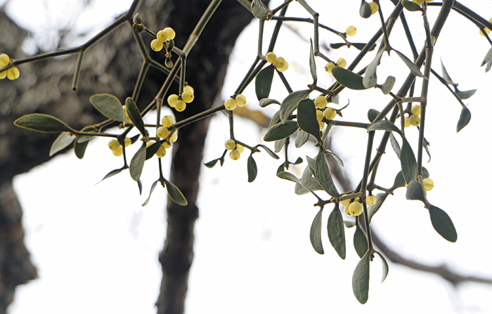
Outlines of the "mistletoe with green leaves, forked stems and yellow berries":
<svg viewBox="0 0 492 314">
<path fill-rule="evenodd" d="M 25 115 L 15 121 L 16 126 L 25 129 L 60 133 L 51 147 L 51 155 L 73 143 L 75 155 L 82 159 L 91 139 L 94 137 L 110 138 L 109 148 L 114 155 L 122 156 L 123 166 L 110 171 L 103 180 L 119 174 L 124 169 L 129 169 L 131 178 L 138 183 L 138 188 L 141 192 L 143 183 L 141 183 L 140 178 L 143 166 L 148 159 L 156 156 L 159 162 L 158 178 L 151 185 L 150 195 L 157 183 L 161 183 L 162 186 L 167 188 L 169 197 L 174 202 L 186 205 L 185 195 L 181 193 L 176 185 L 169 182 L 162 175 L 161 159 L 166 158 L 166 150 L 171 148 L 172 143 L 179 140 L 177 136 L 179 129 L 214 115 L 216 112 L 226 112 L 230 122 L 228 130 L 230 138 L 225 143 L 224 152 L 218 158 L 207 162 L 205 166 L 211 168 L 217 162 L 222 166 L 227 152 L 229 152 L 231 159 L 237 160 L 244 150 L 249 150 L 247 174 L 248 181 L 253 182 L 257 176 L 254 153 L 264 150 L 271 157 L 280 159 L 277 153 L 284 150 L 285 158 L 278 166 L 277 176 L 294 182 L 297 194 L 311 193 L 316 199 L 314 206 L 319 208 L 310 231 L 311 244 L 315 251 L 318 254 L 324 253 L 324 246 L 321 241 L 321 225 L 323 209 L 327 205 L 332 207 L 328 217 L 328 238 L 330 244 L 342 259 L 346 257 L 345 228 L 356 228 L 354 247 L 361 260 L 354 271 L 352 286 L 356 299 L 361 303 L 368 301 L 370 261 L 373 261 L 375 255 L 382 260 L 384 270 L 382 280 L 385 279 L 388 273 L 387 262 L 373 246 L 370 222 L 377 211 L 384 205 L 387 197 L 392 195 L 396 189 L 406 188 L 407 199 L 422 202 L 423 207 L 429 212 L 432 226 L 439 235 L 450 242 L 457 240 L 457 233 L 451 218 L 445 211 L 431 204 L 426 196 L 427 192 L 432 190 L 434 186 L 432 180 L 429 179 L 428 171 L 422 166 L 424 150 L 429 154 L 428 142 L 425 138 L 426 111 L 428 105 L 433 105 L 427 102 L 429 80 L 432 74 L 446 86 L 448 91 L 455 96 L 458 104 L 462 106 L 457 124 L 458 132 L 470 122 L 470 110 L 463 103 L 463 100 L 470 98 L 475 90 L 458 90 L 458 84 L 451 79 L 442 63 L 441 74 L 434 70 L 432 67 L 434 45 L 451 11 L 459 13 L 465 20 L 476 25 L 480 34 L 492 45 L 492 41 L 488 37 L 490 29 L 492 29 L 491 22 L 463 6 L 460 2 L 453 0 L 444 0 L 442 3 L 432 3 L 433 1 L 429 0 L 414 0 L 413 2 L 387 1 L 387 3 L 384 3 L 385 6 L 394 7 L 387 17 L 383 15 L 382 4 L 380 4 L 379 0 L 371 3 L 362 0 L 361 6 L 358 8 L 361 18 L 370 18 L 375 15 L 374 18 L 379 18 L 381 27 L 367 42 L 355 43 L 348 40 L 348 37 L 356 35 L 354 26 L 349 26 L 345 32 L 340 32 L 328 25 L 321 24 L 320 19 L 323 15 L 314 11 L 305 0 L 297 0 L 297 2 L 311 15 L 311 18 L 288 16 L 287 8 L 292 0 L 286 0 L 281 6 L 273 10 L 266 7 L 261 0 L 253 0 L 252 3 L 247 0 L 238 0 L 247 10 L 252 12 L 254 17 L 259 19 L 257 55 L 250 69 L 245 73 L 237 89 L 230 98 L 225 100 L 224 104 L 181 121 L 174 121 L 174 118 L 170 115 L 161 117 L 162 107 L 168 106 L 172 110 L 181 112 L 186 110 L 188 105 L 193 105 L 195 94 L 193 86 L 189 86 L 186 82 L 186 59 L 221 1 L 212 0 L 210 2 L 202 18 L 195 25 L 195 29 L 189 34 L 186 45 L 181 48 L 175 46 L 174 37 L 186 36 L 186 34 L 175 34 L 171 27 L 165 27 L 158 32 L 148 29 L 143 19 L 136 13 L 140 2 L 141 0 L 135 0 L 126 14 L 81 46 L 35 55 L 22 60 L 11 60 L 8 55 L 0 55 L 0 66 L 3 69 L 3 72 L 0 72 L 0 77 L 17 79 L 19 77 L 18 66 L 24 63 L 54 58 L 60 55 L 77 54 L 77 66 L 73 79 L 73 89 L 76 90 L 86 51 L 120 25 L 127 24 L 132 28 L 136 45 L 143 55 L 143 63 L 134 91 L 131 96 L 124 100 L 124 105 L 116 96 L 107 93 L 91 96 L 90 103 L 101 112 L 105 119 L 99 124 L 85 126 L 80 130 L 72 129 L 72 127 L 56 117 L 43 114 Z M 432 27 L 427 17 L 427 11 L 430 10 L 439 11 Z M 418 43 L 413 40 L 413 34 L 410 31 L 410 27 L 408 27 L 407 18 L 422 20 L 425 42 L 422 43 L 420 52 L 417 51 Z M 403 25 L 407 44 L 412 51 L 410 56 L 401 53 L 395 46 L 392 46 L 393 41 L 391 39 L 393 37 L 391 37 L 391 34 L 393 34 L 394 25 L 398 20 Z M 274 24 L 266 49 L 264 49 L 265 23 Z M 274 53 L 278 34 L 286 23 L 309 23 L 313 26 L 312 39 L 309 43 L 309 48 L 306 49 L 306 51 L 310 51 L 309 55 L 306 53 L 306 59 L 309 59 L 309 72 L 311 73 L 312 81 L 306 84 L 306 89 L 292 89 L 286 75 L 287 72 L 285 72 L 289 67 L 289 63 L 276 54 L 278 51 Z M 150 57 L 148 47 L 143 40 L 144 37 L 152 39 L 150 47 L 154 51 L 162 51 L 164 53 L 164 64 L 158 63 Z M 347 61 L 343 58 L 330 60 L 327 55 L 321 52 L 320 38 L 330 41 L 338 38 L 342 42 L 330 44 L 331 48 L 342 49 L 353 46 L 358 49 L 358 55 L 356 55 L 354 60 L 351 60 L 348 66 Z M 379 39 L 382 40 L 378 46 L 377 41 Z M 375 51 L 376 54 L 373 59 L 368 60 L 370 51 Z M 384 63 L 382 56 L 385 53 L 397 55 L 408 68 L 408 75 L 399 88 L 395 87 L 396 79 L 394 76 L 390 75 L 384 81 L 378 81 L 377 70 Z M 335 79 L 335 83 L 331 86 L 318 85 L 317 64 L 320 63 L 323 63 L 323 70 L 330 73 L 328 75 L 332 75 Z M 481 65 L 486 65 L 486 71 L 490 70 L 492 66 L 492 48 L 486 53 Z M 147 104 L 139 103 L 138 95 L 149 67 L 155 67 L 160 70 L 166 75 L 166 79 L 152 102 Z M 423 72 L 421 71 L 422 67 Z M 357 72 L 356 68 L 358 69 Z M 275 76 L 282 81 L 289 93 L 284 99 L 276 99 L 276 96 L 271 95 L 271 86 Z M 252 85 L 253 81 L 259 107 L 280 105 L 278 111 L 271 117 L 268 131 L 264 135 L 265 142 L 273 142 L 273 150 L 263 143 L 248 145 L 234 136 L 234 110 L 236 107 L 247 103 L 245 96 L 242 96 L 242 92 Z M 421 84 L 420 95 L 415 90 L 417 81 Z M 168 93 L 172 84 L 179 86 L 178 94 Z M 338 105 L 339 95 L 341 93 L 357 93 L 366 89 L 380 89 L 384 97 L 387 98 L 387 105 L 368 110 L 368 121 L 351 121 L 350 117 L 341 119 L 342 112 L 347 106 L 340 107 Z M 311 95 L 315 92 L 320 95 L 311 98 Z M 143 118 L 153 111 L 157 112 L 155 122 L 144 122 Z M 115 125 L 119 125 L 118 132 L 108 131 L 110 127 Z M 358 128 L 368 133 L 363 173 L 354 190 L 339 191 L 332 180 L 327 157 L 334 158 L 343 166 L 342 159 L 325 147 L 325 139 L 333 126 Z M 415 126 L 418 132 L 416 143 L 410 143 L 406 136 L 406 128 L 412 126 Z M 382 135 L 379 143 L 375 143 L 375 133 L 381 133 Z M 288 171 L 291 164 L 302 164 L 304 162 L 301 157 L 295 162 L 290 162 L 287 159 L 287 151 L 292 150 L 292 145 L 290 145 L 292 137 L 294 138 L 295 148 L 302 148 L 303 145 L 309 143 L 309 145 L 314 145 L 317 150 L 316 155 L 306 156 L 306 166 L 301 178 Z M 310 138 L 313 141 L 309 142 Z M 137 143 L 139 148 L 129 160 L 127 147 Z M 378 169 L 384 166 L 381 163 L 381 157 L 386 151 L 388 143 L 391 143 L 391 148 L 396 152 L 396 158 L 399 159 L 401 164 L 401 171 L 395 175 L 394 183 L 391 187 L 384 187 L 377 184 L 377 174 Z M 414 149 L 417 152 L 416 155 Z M 318 191 L 327 193 L 328 197 L 323 197 Z M 375 195 L 377 191 L 379 192 Z M 148 203 L 150 195 L 143 205 Z M 341 206 L 343 210 L 341 210 Z M 348 218 L 348 216 L 354 216 L 354 220 L 350 220 L 351 218 Z"/>
</svg>

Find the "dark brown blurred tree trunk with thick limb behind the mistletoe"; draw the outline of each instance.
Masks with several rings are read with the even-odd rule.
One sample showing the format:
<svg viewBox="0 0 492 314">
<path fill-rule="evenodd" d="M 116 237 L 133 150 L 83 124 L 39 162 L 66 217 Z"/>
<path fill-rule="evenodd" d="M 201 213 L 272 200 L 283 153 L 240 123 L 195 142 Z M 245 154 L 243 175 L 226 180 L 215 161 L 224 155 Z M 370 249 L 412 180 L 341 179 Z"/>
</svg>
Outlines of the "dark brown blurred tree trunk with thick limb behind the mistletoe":
<svg viewBox="0 0 492 314">
<path fill-rule="evenodd" d="M 138 13 L 151 30 L 173 27 L 176 46 L 182 47 L 208 4 L 205 0 L 143 1 Z M 186 77 L 195 88 L 196 98 L 187 110 L 176 114 L 178 120 L 220 102 L 216 98 L 224 83 L 229 55 L 251 19 L 252 15 L 237 1 L 224 1 L 219 6 L 188 58 Z M 11 58 L 23 58 L 20 46 L 28 34 L 3 11 L 0 12 L 0 28 L 1 52 Z M 150 37 L 143 37 L 150 43 Z M 153 53 L 153 58 L 162 60 L 162 55 Z M 130 28 L 123 25 L 86 53 L 76 93 L 71 88 L 75 63 L 75 56 L 70 56 L 21 65 L 20 79 L 0 81 L 0 313 L 6 313 L 15 287 L 36 277 L 23 244 L 22 209 L 11 182 L 13 176 L 48 161 L 48 151 L 56 138 L 53 134 L 15 128 L 13 121 L 27 113 L 42 112 L 76 129 L 100 122 L 103 117 L 93 109 L 89 97 L 94 93 L 112 93 L 120 100 L 130 96 L 141 65 L 141 54 Z M 151 68 L 138 100 L 139 107 L 153 99 L 164 79 L 161 72 Z M 167 237 L 160 254 L 164 275 L 157 301 L 158 313 L 183 313 L 184 310 L 193 261 L 193 228 L 198 218 L 195 204 L 198 178 L 208 124 L 208 120 L 204 120 L 181 129 L 174 147 L 171 181 L 186 195 L 188 206 L 179 207 L 173 202 L 167 205 Z M 8 197 L 4 198 L 5 195 Z"/>
</svg>

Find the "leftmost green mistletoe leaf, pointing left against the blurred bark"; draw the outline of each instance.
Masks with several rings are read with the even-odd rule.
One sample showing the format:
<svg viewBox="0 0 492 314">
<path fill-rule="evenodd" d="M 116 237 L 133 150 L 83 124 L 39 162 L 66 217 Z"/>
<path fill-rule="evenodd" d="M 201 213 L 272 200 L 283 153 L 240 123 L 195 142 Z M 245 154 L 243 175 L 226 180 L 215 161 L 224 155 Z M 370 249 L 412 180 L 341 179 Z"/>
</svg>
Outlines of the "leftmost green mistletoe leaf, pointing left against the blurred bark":
<svg viewBox="0 0 492 314">
<path fill-rule="evenodd" d="M 20 128 L 42 132 L 42 133 L 61 133 L 72 132 L 77 133 L 70 126 L 67 126 L 65 122 L 51 115 L 44 115 L 41 113 L 33 113 L 31 115 L 25 115 L 13 122 L 15 126 Z"/>
</svg>

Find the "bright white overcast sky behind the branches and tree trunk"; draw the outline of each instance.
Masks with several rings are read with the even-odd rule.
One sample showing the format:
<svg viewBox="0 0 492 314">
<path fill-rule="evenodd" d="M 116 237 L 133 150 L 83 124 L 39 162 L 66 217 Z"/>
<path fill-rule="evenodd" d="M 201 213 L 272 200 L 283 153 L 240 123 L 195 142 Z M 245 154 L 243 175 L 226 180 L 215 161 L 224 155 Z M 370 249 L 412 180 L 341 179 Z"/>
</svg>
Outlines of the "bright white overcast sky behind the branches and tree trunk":
<svg viewBox="0 0 492 314">
<path fill-rule="evenodd" d="M 358 29 L 354 41 L 363 42 L 374 32 L 375 18 L 358 18 L 359 2 L 352 2 L 357 10 L 339 12 L 350 13 L 347 20 L 354 21 L 351 23 Z M 34 13 L 44 12 L 43 6 L 37 7 L 34 3 L 38 1 L 16 0 L 10 9 L 15 12 L 22 8 L 22 18 L 33 20 L 29 18 L 32 13 L 27 12 L 27 8 Z M 69 12 L 56 13 L 57 8 L 63 6 L 39 1 L 39 4 L 45 3 L 48 3 L 50 12 L 55 12 L 53 14 L 67 15 Z M 95 1 L 93 12 L 107 14 L 99 19 L 106 22 L 123 10 L 124 3 L 129 5 L 129 1 L 116 1 L 122 7 L 112 4 L 110 8 L 114 11 L 110 11 L 102 7 L 103 3 Z M 323 1 L 309 1 L 309 4 L 315 10 L 323 11 Z M 297 4 L 294 5 L 298 8 Z M 473 1 L 467 5 L 481 13 L 492 11 L 490 1 Z M 389 10 L 391 5 L 384 3 L 384 8 Z M 334 11 L 336 9 L 333 8 Z M 88 17 L 91 16 L 82 13 L 74 23 L 77 30 L 87 30 L 90 25 Z M 321 20 L 344 30 L 349 25 L 345 20 L 334 20 L 337 16 L 332 14 L 328 20 L 322 15 Z M 420 27 L 418 13 L 409 13 L 407 18 L 415 30 Z M 448 263 L 463 274 L 490 276 L 487 262 L 490 257 L 489 235 L 482 222 L 490 221 L 492 214 L 488 204 L 482 208 L 486 201 L 481 201 L 481 191 L 487 190 L 490 183 L 486 178 L 491 176 L 491 169 L 486 166 L 489 158 L 482 149 L 484 126 L 488 125 L 488 117 L 492 113 L 486 106 L 491 74 L 485 74 L 479 67 L 489 47 L 475 27 L 456 14 L 451 18 L 453 20 L 448 22 L 437 42 L 434 69 L 441 72 L 441 57 L 451 77 L 460 83 L 460 88 L 478 91 L 467 100 L 472 121 L 457 134 L 455 126 L 460 105 L 438 81 L 432 79 L 431 87 L 436 93 L 429 96 L 426 125 L 432 161 L 425 166 L 435 183 L 434 190 L 429 192 L 429 200 L 451 216 L 458 230 L 458 242 L 451 244 L 437 235 L 420 202 L 405 201 L 403 190 L 388 198 L 373 222 L 387 243 L 404 256 L 434 265 Z M 57 18 L 38 20 L 41 23 L 52 22 L 48 25 L 53 28 Z M 397 27 L 401 28 L 399 23 Z M 34 28 L 40 30 L 39 25 Z M 310 30 L 301 31 L 309 37 Z M 229 70 L 233 74 L 228 75 L 224 96 L 235 90 L 240 81 L 238 73 L 245 72 L 254 60 L 256 47 L 247 39 L 254 38 L 256 33 L 257 23 L 254 23 L 236 46 Z M 419 45 L 422 34 L 417 38 Z M 328 42 L 337 41 L 326 33 L 323 36 Z M 286 44 L 279 45 L 275 52 L 290 63 L 286 76 L 295 90 L 304 89 L 309 82 L 309 78 L 306 79 L 309 73 L 302 70 L 308 64 L 309 46 L 293 43 L 294 37 L 291 32 L 282 32 L 280 41 Z M 393 44 L 408 53 L 404 44 L 396 40 Z M 355 53 L 354 49 L 339 49 L 333 51 L 330 58 L 344 57 L 350 62 Z M 319 60 L 319 81 L 328 85 L 332 77 L 323 71 L 323 66 Z M 380 80 L 401 66 L 395 55 L 385 55 L 378 67 Z M 22 72 L 22 68 L 20 70 Z M 396 86 L 399 82 L 401 78 L 397 77 Z M 282 100 L 286 94 L 279 86 L 276 79 L 276 90 L 272 95 Z M 379 91 L 342 94 L 341 104 L 347 103 L 347 98 L 351 103 L 344 110 L 343 119 L 365 121 L 368 109 L 381 108 L 387 103 L 387 98 L 381 98 L 380 94 Z M 245 96 L 250 105 L 257 105 L 252 86 L 245 91 Z M 368 103 L 367 99 L 376 99 L 373 97 L 377 100 Z M 443 113 L 444 109 L 446 113 Z M 267 112 L 272 110 L 267 108 Z M 252 145 L 261 143 L 263 134 L 256 131 L 250 122 L 237 119 L 237 123 L 236 138 Z M 344 159 L 352 180 L 356 181 L 362 172 L 365 132 L 333 131 L 337 132 L 337 151 Z M 415 142 L 417 131 L 408 129 L 407 133 Z M 227 119 L 217 115 L 212 120 L 207 138 L 205 162 L 219 157 L 227 138 Z M 477 148 L 480 148 L 479 152 Z M 313 150 L 294 150 L 290 158 L 294 160 L 305 155 L 313 156 Z M 190 274 L 187 313 L 339 313 L 341 310 L 348 313 L 358 310 L 365 313 L 392 313 L 396 310 L 399 313 L 492 313 L 488 303 L 491 287 L 467 284 L 454 290 L 435 276 L 391 263 L 387 280 L 380 284 L 381 266 L 377 259 L 371 264 L 369 301 L 361 306 L 351 289 L 351 276 L 358 262 L 351 244 L 353 230 L 346 229 L 345 261 L 340 260 L 330 247 L 325 233 L 325 255 L 316 254 L 309 243 L 309 228 L 317 212 L 312 206 L 315 199 L 309 195 L 294 195 L 293 184 L 275 177 L 278 161 L 264 152 L 254 157 L 259 168 L 254 183 L 247 183 L 247 155 L 238 162 L 226 160 L 222 168 L 202 169 L 200 218 L 196 225 L 195 261 Z M 398 162 L 391 148 L 384 155 L 383 162 L 389 170 L 384 171 L 380 167 L 381 185 L 391 185 L 398 171 Z M 119 174 L 94 185 L 108 171 L 115 169 L 115 164 L 118 166 L 119 160 L 108 150 L 107 140 L 96 139 L 91 141 L 82 161 L 69 153 L 15 179 L 15 188 L 25 210 L 27 247 L 39 269 L 40 278 L 18 288 L 10 314 L 155 313 L 153 304 L 161 279 L 157 256 L 164 239 L 165 191 L 156 188 L 150 204 L 141 207 L 156 179 L 155 164 L 145 165 L 141 197 L 128 174 Z M 300 166 L 293 171 L 300 174 L 303 169 L 304 166 Z M 327 211 L 324 220 L 328 218 Z"/>
</svg>

